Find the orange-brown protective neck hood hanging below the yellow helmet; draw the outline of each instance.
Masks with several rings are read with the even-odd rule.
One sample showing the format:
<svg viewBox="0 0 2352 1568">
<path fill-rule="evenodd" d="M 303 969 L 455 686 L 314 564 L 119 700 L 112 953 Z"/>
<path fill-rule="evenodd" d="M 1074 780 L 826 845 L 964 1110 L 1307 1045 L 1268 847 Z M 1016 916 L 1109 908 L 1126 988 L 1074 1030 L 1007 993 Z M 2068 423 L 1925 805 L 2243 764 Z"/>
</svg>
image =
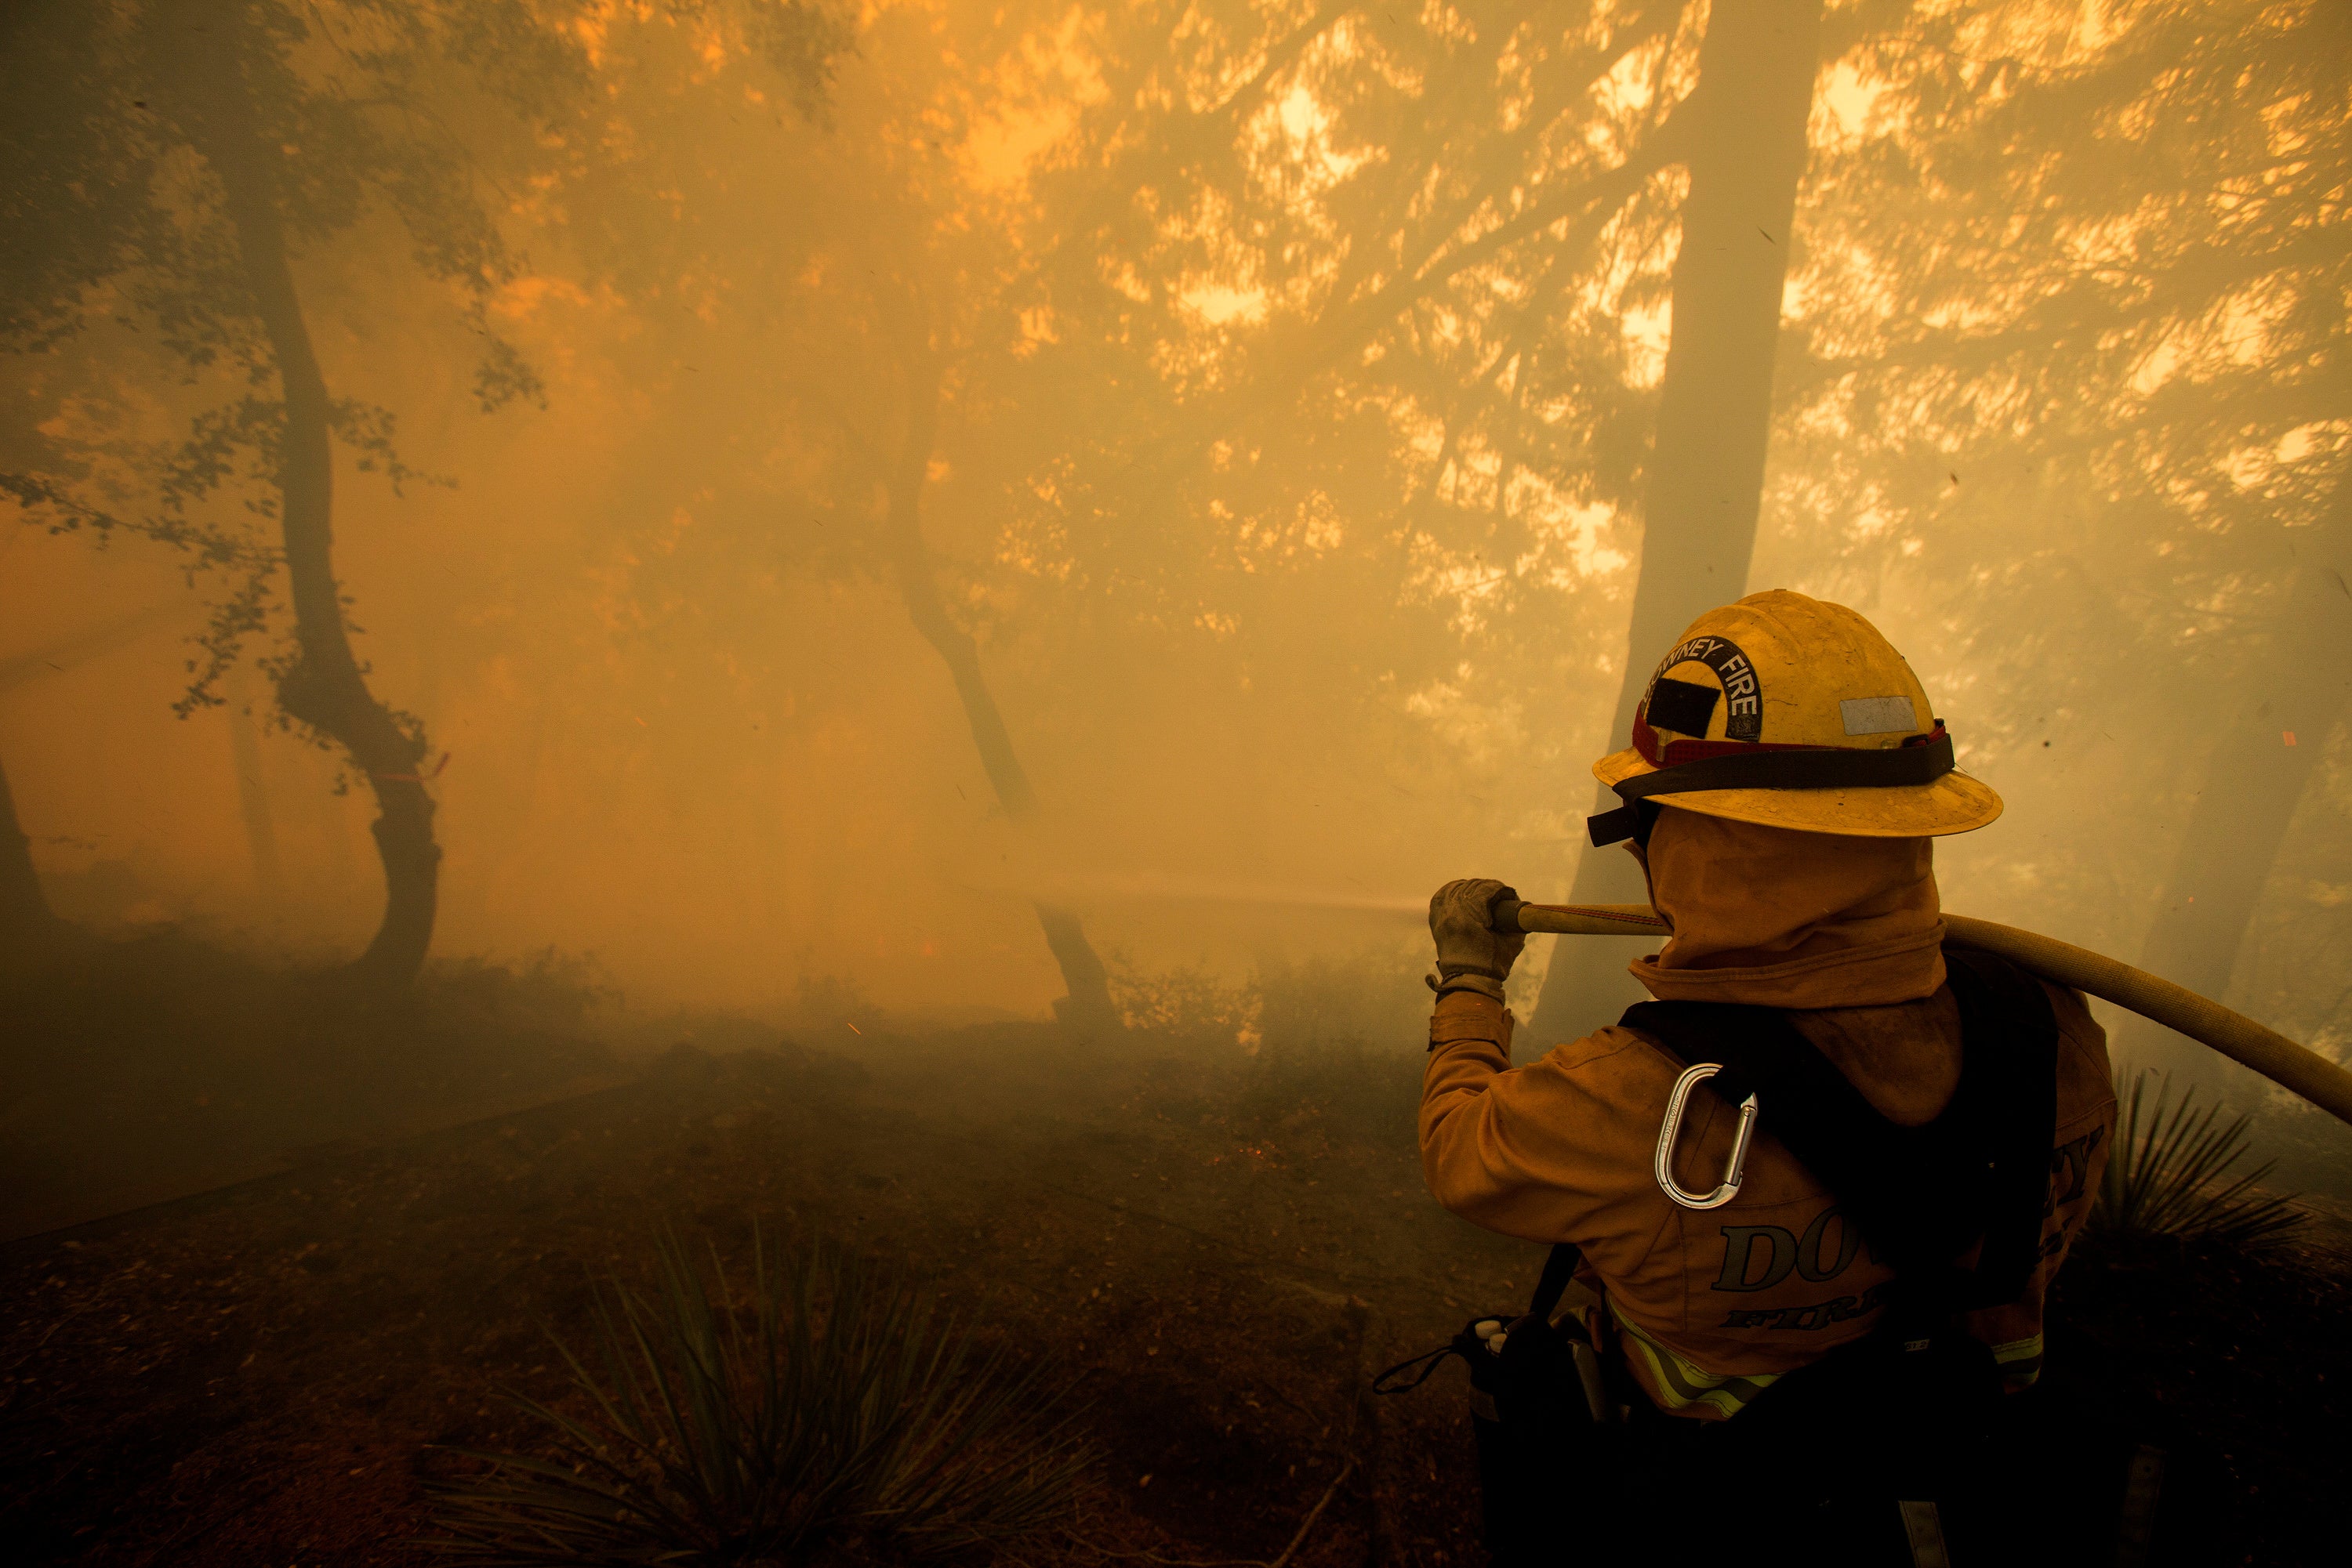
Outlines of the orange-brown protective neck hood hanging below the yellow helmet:
<svg viewBox="0 0 2352 1568">
<path fill-rule="evenodd" d="M 1665 806 L 1651 903 L 1672 924 L 1632 964 L 1665 1001 L 1889 1006 L 1943 985 L 1933 839 L 1863 839 Z"/>
</svg>

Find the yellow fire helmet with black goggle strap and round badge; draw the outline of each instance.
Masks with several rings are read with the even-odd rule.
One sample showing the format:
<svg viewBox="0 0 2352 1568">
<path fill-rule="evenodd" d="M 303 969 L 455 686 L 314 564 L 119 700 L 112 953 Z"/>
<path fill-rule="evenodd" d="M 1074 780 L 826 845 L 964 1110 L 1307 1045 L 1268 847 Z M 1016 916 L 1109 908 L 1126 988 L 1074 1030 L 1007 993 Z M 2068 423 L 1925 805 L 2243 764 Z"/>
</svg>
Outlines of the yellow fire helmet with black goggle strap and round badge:
<svg viewBox="0 0 2352 1568">
<path fill-rule="evenodd" d="M 1952 769 L 1952 736 L 1893 644 L 1785 588 L 1693 621 L 1635 708 L 1632 745 L 1592 776 L 1625 802 L 1585 823 L 1595 844 L 1646 839 L 1644 802 L 1872 839 L 2002 813 L 1990 785 Z"/>
</svg>

